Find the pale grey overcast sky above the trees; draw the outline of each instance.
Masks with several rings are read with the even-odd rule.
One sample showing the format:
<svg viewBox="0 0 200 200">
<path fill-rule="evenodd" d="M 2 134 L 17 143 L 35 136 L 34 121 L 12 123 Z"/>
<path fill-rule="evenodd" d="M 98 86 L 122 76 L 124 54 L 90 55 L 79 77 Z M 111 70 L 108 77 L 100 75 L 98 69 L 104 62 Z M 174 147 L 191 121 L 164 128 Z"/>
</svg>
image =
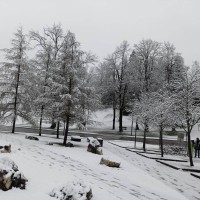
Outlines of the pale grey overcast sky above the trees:
<svg viewBox="0 0 200 200">
<path fill-rule="evenodd" d="M 0 0 L 0 48 L 19 26 L 28 33 L 61 23 L 100 60 L 123 40 L 169 41 L 187 65 L 200 61 L 200 0 Z"/>
</svg>

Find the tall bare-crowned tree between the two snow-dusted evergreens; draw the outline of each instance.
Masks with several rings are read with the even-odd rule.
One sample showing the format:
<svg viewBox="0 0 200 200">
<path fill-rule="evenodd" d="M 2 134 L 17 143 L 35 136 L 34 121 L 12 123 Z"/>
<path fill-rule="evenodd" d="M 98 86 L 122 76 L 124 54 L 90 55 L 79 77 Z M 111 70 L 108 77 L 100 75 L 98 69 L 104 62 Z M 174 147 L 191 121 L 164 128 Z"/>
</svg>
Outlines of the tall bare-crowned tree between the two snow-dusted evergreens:
<svg viewBox="0 0 200 200">
<path fill-rule="evenodd" d="M 43 35 L 38 32 L 31 31 L 30 38 L 36 42 L 38 51 L 35 57 L 35 64 L 38 66 L 41 77 L 41 94 L 37 99 L 37 103 L 41 106 L 40 109 L 40 126 L 39 136 L 42 134 L 42 121 L 45 107 L 48 107 L 46 111 L 53 115 L 52 120 L 54 123 L 55 108 L 51 107 L 53 97 L 49 95 L 51 93 L 50 82 L 53 79 L 53 72 L 56 68 L 57 56 L 63 44 L 63 31 L 60 25 L 53 25 L 52 27 L 44 28 Z M 50 111 L 50 108 L 52 110 Z"/>
</svg>

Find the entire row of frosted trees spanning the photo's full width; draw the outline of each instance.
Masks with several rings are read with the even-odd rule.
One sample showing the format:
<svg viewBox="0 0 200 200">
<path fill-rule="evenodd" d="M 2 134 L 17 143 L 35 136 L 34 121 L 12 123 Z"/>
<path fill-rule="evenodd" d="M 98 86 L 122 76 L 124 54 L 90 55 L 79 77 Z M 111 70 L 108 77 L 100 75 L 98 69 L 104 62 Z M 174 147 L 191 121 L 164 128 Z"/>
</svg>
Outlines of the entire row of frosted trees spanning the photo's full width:
<svg viewBox="0 0 200 200">
<path fill-rule="evenodd" d="M 112 129 L 119 122 L 123 131 L 125 112 L 143 127 L 144 150 L 150 126 L 159 130 L 162 155 L 163 130 L 183 128 L 193 165 L 190 133 L 200 120 L 200 68 L 198 62 L 185 66 L 173 44 L 143 39 L 131 47 L 123 41 L 98 62 L 74 33 L 54 24 L 28 35 L 19 28 L 2 51 L 0 119 L 12 122 L 12 133 L 17 116 L 38 126 L 40 136 L 44 120 L 57 127 L 57 137 L 62 122 L 66 145 L 70 124 L 85 128 L 94 123 L 93 111 L 109 106 Z"/>
</svg>

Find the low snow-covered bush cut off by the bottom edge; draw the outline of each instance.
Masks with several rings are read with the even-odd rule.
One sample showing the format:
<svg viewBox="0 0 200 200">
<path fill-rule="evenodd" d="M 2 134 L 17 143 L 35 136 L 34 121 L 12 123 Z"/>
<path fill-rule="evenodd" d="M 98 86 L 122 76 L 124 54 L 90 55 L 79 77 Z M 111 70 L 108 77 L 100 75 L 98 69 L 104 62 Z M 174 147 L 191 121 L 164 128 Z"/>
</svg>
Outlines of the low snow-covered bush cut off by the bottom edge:
<svg viewBox="0 0 200 200">
<path fill-rule="evenodd" d="M 93 195 L 90 186 L 79 180 L 53 189 L 50 196 L 59 200 L 90 200 Z"/>
</svg>

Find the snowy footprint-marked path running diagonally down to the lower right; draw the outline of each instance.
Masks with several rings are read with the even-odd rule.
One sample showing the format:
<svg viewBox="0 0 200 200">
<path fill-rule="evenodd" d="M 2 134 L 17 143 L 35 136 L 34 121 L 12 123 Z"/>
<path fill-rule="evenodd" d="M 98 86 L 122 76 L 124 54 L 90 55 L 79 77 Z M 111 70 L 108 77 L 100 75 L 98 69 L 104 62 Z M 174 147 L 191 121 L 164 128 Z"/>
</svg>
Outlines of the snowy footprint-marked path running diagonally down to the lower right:
<svg viewBox="0 0 200 200">
<path fill-rule="evenodd" d="M 121 155 L 130 164 L 139 167 L 149 173 L 154 178 L 164 182 L 171 188 L 183 193 L 189 200 L 200 200 L 200 180 L 192 177 L 189 172 L 174 170 L 164 166 L 155 160 L 145 158 L 134 152 L 129 152 L 124 148 L 106 144 L 104 148 L 109 148 L 113 153 Z"/>
</svg>

